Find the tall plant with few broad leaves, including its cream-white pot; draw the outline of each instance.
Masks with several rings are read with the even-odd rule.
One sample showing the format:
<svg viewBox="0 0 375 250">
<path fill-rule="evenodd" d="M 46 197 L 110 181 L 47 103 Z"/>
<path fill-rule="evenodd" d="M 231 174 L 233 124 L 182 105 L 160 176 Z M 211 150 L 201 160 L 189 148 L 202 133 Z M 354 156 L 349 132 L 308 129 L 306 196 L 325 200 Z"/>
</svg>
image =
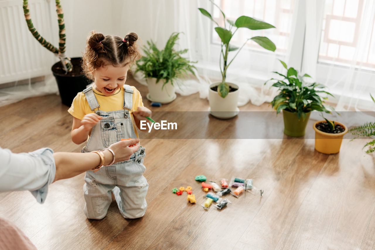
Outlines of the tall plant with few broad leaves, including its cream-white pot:
<svg viewBox="0 0 375 250">
<path fill-rule="evenodd" d="M 265 36 L 254 36 L 252 38 L 248 38 L 240 48 L 232 45 L 230 43 L 231 39 L 240 28 L 247 28 L 250 30 L 263 30 L 275 28 L 275 26 L 247 16 L 241 16 L 237 18 L 236 21 L 229 20 L 225 17 L 224 12 L 220 9 L 219 6 L 217 6 L 211 0 L 210 2 L 213 3 L 214 6 L 219 8 L 221 14 L 223 15 L 224 27 L 220 27 L 219 24 L 212 18 L 211 14 L 208 13 L 208 11 L 202 8 L 198 8 L 203 15 L 210 18 L 210 20 L 217 25 L 217 27 L 215 27 L 215 31 L 221 39 L 219 68 L 222 80 L 220 83 L 213 83 L 210 85 L 208 89 L 208 101 L 210 103 L 210 113 L 215 117 L 225 119 L 234 117 L 239 113 L 239 108 L 237 107 L 239 87 L 234 83 L 227 83 L 225 80 L 226 71 L 228 70 L 229 65 L 231 65 L 233 60 L 249 40 L 256 42 L 266 50 L 276 50 L 275 44 Z M 234 55 L 232 60 L 228 61 L 228 55 L 233 51 L 237 51 L 237 53 Z"/>
</svg>

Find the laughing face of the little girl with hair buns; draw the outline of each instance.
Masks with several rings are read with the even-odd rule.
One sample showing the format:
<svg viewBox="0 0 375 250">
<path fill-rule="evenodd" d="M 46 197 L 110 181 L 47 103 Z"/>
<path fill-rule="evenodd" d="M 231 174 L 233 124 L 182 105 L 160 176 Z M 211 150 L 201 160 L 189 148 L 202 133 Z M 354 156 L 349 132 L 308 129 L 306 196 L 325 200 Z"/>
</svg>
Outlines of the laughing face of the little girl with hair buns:
<svg viewBox="0 0 375 250">
<path fill-rule="evenodd" d="M 117 90 L 125 83 L 129 68 L 130 63 L 126 63 L 125 66 L 117 67 L 108 64 L 96 69 L 92 72 L 94 76 L 93 87 L 96 91 L 99 91 L 106 96 L 117 93 Z"/>
</svg>

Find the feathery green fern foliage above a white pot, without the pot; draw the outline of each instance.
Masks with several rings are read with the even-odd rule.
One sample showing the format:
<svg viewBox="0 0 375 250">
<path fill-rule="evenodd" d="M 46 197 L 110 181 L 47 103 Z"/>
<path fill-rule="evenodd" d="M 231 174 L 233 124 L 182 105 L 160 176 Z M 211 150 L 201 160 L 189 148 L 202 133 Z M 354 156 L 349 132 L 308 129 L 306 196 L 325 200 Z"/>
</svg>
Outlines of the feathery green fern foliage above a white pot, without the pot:
<svg viewBox="0 0 375 250">
<path fill-rule="evenodd" d="M 196 68 L 192 65 L 195 62 L 181 56 L 188 50 L 174 49 L 178 35 L 180 33 L 172 33 L 162 50 L 152 40 L 147 41 L 147 46 L 142 48 L 145 55 L 136 62 L 135 73 L 142 72 L 145 78 L 156 78 L 156 83 L 163 80 L 162 89 L 169 82 L 173 86 L 178 85 L 177 78 L 187 77 L 189 73 L 195 75 Z"/>
</svg>

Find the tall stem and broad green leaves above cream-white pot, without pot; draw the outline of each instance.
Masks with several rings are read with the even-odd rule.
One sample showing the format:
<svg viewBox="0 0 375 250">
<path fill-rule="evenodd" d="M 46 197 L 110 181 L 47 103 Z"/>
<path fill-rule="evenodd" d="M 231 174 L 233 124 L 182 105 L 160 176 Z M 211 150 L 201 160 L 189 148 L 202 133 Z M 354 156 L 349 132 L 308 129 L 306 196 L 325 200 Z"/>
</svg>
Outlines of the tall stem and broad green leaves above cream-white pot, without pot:
<svg viewBox="0 0 375 250">
<path fill-rule="evenodd" d="M 217 6 L 214 2 L 212 2 L 211 0 L 210 2 L 220 9 L 220 7 Z M 217 92 L 222 98 L 225 98 L 225 96 L 227 96 L 229 93 L 229 85 L 225 82 L 226 71 L 228 70 L 229 65 L 231 65 L 231 63 L 233 62 L 234 58 L 236 58 L 240 50 L 245 46 L 245 44 L 249 40 L 256 42 L 257 44 L 259 44 L 266 50 L 270 50 L 270 51 L 276 50 L 275 44 L 265 36 L 254 36 L 252 38 L 248 38 L 246 39 L 246 41 L 240 48 L 237 46 L 231 45 L 230 41 L 233 38 L 234 34 L 240 28 L 247 28 L 251 30 L 263 30 L 263 29 L 275 28 L 275 26 L 269 23 L 263 22 L 263 21 L 256 20 L 251 17 L 247 17 L 247 16 L 241 16 L 237 18 L 236 21 L 229 20 L 225 17 L 224 12 L 220 9 L 220 12 L 222 13 L 223 18 L 224 18 L 224 27 L 220 27 L 220 25 L 212 18 L 211 14 L 208 13 L 208 11 L 202 8 L 198 8 L 198 9 L 203 15 L 210 18 L 210 20 L 213 21 L 217 25 L 217 27 L 215 27 L 215 31 L 221 39 L 221 52 L 220 52 L 219 67 L 220 67 L 220 72 L 222 75 L 222 81 L 217 86 Z M 237 53 L 234 55 L 232 60 L 228 62 L 229 52 L 236 51 L 236 50 L 237 50 Z M 223 60 L 223 63 L 221 62 L 222 60 Z"/>
</svg>

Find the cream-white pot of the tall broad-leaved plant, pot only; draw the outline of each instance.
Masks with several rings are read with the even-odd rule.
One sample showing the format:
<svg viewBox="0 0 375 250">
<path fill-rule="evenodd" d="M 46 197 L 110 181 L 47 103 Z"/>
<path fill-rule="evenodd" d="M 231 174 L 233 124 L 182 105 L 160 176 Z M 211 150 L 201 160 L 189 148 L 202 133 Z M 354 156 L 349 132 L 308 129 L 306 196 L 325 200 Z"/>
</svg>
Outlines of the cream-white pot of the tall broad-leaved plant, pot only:
<svg viewBox="0 0 375 250">
<path fill-rule="evenodd" d="M 239 87 L 233 83 L 227 83 L 229 86 L 237 89 L 234 92 L 229 92 L 225 98 L 219 96 L 219 93 L 213 91 L 211 87 L 219 85 L 219 83 L 213 83 L 210 85 L 208 89 L 208 102 L 210 103 L 210 107 L 208 111 L 214 117 L 220 119 L 229 119 L 236 116 L 240 109 L 237 107 L 238 103 L 238 96 L 239 96 Z"/>
</svg>

